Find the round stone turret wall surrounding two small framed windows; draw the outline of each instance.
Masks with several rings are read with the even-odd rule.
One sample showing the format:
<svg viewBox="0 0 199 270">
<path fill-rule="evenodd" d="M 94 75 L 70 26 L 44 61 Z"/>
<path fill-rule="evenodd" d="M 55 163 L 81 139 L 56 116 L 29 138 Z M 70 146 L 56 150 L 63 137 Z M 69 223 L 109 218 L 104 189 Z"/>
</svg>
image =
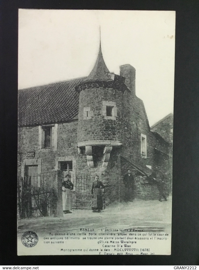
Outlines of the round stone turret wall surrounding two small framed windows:
<svg viewBox="0 0 199 270">
<path fill-rule="evenodd" d="M 78 142 L 92 140 L 123 141 L 123 121 L 121 98 L 123 93 L 117 89 L 84 89 L 79 97 Z M 116 104 L 115 120 L 103 115 L 103 101 Z M 111 105 L 112 106 L 112 105 Z M 88 117 L 84 108 L 89 107 Z"/>
</svg>

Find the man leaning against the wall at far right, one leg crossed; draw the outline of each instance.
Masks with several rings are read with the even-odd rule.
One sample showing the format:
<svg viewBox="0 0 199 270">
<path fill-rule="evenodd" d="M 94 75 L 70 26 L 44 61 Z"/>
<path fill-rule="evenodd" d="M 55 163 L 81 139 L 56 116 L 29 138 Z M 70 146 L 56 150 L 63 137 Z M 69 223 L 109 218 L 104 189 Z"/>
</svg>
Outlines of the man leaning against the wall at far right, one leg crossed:
<svg viewBox="0 0 199 270">
<path fill-rule="evenodd" d="M 150 179 L 153 179 L 157 183 L 157 188 L 159 190 L 159 201 L 162 201 L 162 197 L 164 198 L 165 201 L 167 201 L 166 198 L 166 192 L 164 188 L 164 175 L 162 171 L 159 170 L 159 166 L 155 165 L 154 166 L 154 171 L 150 175 Z"/>
</svg>

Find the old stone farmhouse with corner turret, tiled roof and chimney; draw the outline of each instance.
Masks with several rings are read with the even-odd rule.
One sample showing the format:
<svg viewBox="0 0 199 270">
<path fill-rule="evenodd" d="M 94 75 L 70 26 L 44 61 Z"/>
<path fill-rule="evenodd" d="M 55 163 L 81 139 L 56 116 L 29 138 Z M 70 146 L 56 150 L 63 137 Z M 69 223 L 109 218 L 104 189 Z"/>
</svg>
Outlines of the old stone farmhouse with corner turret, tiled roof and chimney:
<svg viewBox="0 0 199 270">
<path fill-rule="evenodd" d="M 171 118 L 150 128 L 135 93 L 135 68 L 109 72 L 101 45 L 88 77 L 21 89 L 18 109 L 18 174 L 33 175 L 32 185 L 51 173 L 57 188 L 58 172 L 69 172 L 78 181 L 76 192 L 88 193 L 90 184 L 80 175 L 99 174 L 109 184 L 105 201 L 111 203 L 123 199 L 127 168 L 136 170 L 135 198 L 157 198 L 156 186 L 142 178 L 155 164 L 170 181 L 172 136 L 165 121 Z"/>
</svg>

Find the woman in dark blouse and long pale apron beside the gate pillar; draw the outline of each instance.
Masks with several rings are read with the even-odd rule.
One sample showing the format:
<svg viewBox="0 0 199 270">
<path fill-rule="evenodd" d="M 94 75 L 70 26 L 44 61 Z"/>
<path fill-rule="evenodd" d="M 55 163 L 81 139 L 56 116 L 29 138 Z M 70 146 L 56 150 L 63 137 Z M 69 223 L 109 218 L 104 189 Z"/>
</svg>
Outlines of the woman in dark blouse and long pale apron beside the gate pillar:
<svg viewBox="0 0 199 270">
<path fill-rule="evenodd" d="M 72 213 L 70 212 L 72 210 L 72 191 L 73 190 L 73 183 L 70 180 L 70 174 L 66 175 L 66 178 L 64 179 L 62 183 L 62 203 L 63 203 L 63 212 L 64 214 Z"/>
</svg>

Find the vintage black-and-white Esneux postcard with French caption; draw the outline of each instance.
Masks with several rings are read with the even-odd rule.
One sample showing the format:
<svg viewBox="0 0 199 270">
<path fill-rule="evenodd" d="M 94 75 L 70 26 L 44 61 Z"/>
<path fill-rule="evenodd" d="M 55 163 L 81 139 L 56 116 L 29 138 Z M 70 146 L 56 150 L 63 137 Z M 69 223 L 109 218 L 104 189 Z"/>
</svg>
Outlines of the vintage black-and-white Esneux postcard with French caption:
<svg viewBox="0 0 199 270">
<path fill-rule="evenodd" d="M 174 11 L 19 9 L 18 255 L 170 255 Z"/>
</svg>

